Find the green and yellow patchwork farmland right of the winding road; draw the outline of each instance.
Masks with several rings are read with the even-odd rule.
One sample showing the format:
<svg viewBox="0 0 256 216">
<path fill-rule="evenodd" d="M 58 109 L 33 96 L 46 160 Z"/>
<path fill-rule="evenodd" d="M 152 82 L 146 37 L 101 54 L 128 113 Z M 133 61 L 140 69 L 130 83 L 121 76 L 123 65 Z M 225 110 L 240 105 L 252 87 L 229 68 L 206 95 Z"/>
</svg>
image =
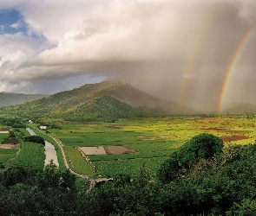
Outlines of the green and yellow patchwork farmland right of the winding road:
<svg viewBox="0 0 256 216">
<path fill-rule="evenodd" d="M 155 175 L 168 156 L 200 133 L 220 137 L 225 145 L 254 143 L 255 127 L 256 118 L 248 117 L 141 118 L 120 119 L 116 123 L 62 124 L 62 130 L 49 132 L 62 141 L 65 154 L 78 173 L 113 177 L 134 175 L 142 166 Z M 105 151 L 102 155 L 98 151 L 86 154 L 81 151 L 86 147 Z"/>
</svg>

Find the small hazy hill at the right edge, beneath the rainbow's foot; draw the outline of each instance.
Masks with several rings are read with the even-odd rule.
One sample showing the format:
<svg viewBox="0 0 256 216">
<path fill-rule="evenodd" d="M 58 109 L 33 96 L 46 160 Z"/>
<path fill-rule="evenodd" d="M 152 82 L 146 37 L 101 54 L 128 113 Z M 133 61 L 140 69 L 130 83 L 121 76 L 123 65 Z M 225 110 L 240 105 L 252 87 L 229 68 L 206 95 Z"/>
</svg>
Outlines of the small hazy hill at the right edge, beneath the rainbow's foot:
<svg viewBox="0 0 256 216">
<path fill-rule="evenodd" d="M 256 105 L 243 103 L 230 103 L 223 111 L 226 114 L 256 114 Z"/>
</svg>

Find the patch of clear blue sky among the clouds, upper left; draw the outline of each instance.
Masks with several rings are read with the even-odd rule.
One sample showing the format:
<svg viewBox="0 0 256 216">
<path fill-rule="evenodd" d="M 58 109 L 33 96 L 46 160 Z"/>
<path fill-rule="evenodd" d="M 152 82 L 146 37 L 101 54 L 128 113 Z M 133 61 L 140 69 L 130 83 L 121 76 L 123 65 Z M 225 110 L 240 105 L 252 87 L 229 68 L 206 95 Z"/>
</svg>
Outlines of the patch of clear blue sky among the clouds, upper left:
<svg viewBox="0 0 256 216">
<path fill-rule="evenodd" d="M 0 35 L 26 33 L 27 24 L 18 10 L 0 10 Z"/>
</svg>

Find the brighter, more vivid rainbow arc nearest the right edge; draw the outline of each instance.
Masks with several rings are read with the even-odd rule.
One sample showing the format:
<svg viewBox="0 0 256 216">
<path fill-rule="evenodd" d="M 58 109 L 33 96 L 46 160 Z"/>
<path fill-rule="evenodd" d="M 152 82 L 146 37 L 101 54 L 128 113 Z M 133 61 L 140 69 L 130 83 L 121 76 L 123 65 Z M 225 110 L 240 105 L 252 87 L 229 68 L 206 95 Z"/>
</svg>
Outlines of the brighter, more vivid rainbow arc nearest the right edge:
<svg viewBox="0 0 256 216">
<path fill-rule="evenodd" d="M 223 106 L 223 101 L 226 97 L 226 89 L 228 87 L 228 81 L 233 73 L 233 68 L 236 65 L 236 62 L 240 59 L 241 54 L 243 54 L 244 49 L 246 48 L 246 44 L 250 39 L 250 35 L 252 35 L 255 26 L 248 29 L 246 33 L 243 35 L 242 39 L 240 40 L 237 48 L 235 49 L 231 60 L 229 61 L 228 67 L 226 68 L 226 73 L 223 79 L 223 83 L 220 88 L 220 98 L 218 103 L 218 113 L 220 114 Z"/>
</svg>

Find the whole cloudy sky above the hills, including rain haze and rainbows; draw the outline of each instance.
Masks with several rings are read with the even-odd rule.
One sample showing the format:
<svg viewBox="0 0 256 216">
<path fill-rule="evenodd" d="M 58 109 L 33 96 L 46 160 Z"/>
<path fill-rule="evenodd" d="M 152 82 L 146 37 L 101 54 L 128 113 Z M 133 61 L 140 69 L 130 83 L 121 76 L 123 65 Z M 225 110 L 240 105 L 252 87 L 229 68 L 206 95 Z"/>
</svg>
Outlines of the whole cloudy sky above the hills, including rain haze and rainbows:
<svg viewBox="0 0 256 216">
<path fill-rule="evenodd" d="M 256 105 L 254 0 L 1 0 L 0 92 L 115 79 L 197 110 Z"/>
</svg>

